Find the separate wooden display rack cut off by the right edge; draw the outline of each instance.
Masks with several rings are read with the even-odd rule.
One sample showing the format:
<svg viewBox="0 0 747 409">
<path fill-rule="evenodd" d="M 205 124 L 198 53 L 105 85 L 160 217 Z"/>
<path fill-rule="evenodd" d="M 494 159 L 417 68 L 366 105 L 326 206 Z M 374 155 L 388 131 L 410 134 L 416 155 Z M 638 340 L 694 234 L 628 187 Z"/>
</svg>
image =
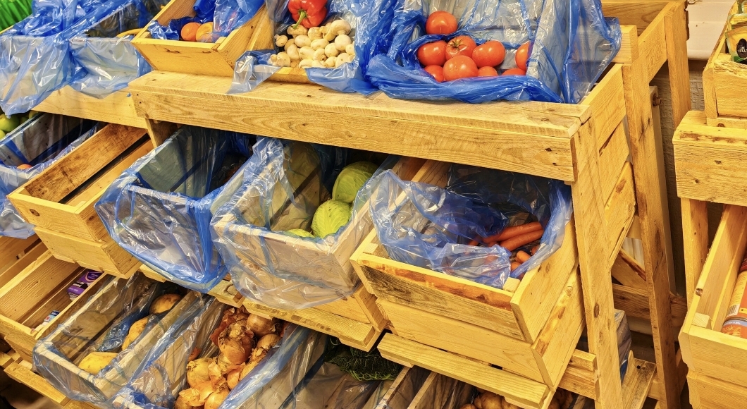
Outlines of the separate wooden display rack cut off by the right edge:
<svg viewBox="0 0 747 409">
<path fill-rule="evenodd" d="M 703 73 L 705 111 L 687 113 L 672 139 L 689 304 L 679 339 L 693 408 L 741 408 L 747 397 L 747 339 L 721 332 L 747 247 L 747 109 L 736 92 L 746 79 L 722 35 Z M 708 202 L 725 205 L 710 250 Z"/>
</svg>

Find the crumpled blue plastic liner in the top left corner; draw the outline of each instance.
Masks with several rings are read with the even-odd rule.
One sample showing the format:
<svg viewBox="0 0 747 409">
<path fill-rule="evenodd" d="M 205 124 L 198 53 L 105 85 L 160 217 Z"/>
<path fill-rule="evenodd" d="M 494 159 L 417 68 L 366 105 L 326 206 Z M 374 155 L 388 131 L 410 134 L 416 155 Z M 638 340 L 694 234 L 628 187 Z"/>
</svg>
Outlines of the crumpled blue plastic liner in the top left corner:
<svg viewBox="0 0 747 409">
<path fill-rule="evenodd" d="M 74 74 L 69 40 L 125 0 L 35 0 L 34 13 L 0 34 L 0 106 L 19 114 L 38 105 Z"/>
</svg>

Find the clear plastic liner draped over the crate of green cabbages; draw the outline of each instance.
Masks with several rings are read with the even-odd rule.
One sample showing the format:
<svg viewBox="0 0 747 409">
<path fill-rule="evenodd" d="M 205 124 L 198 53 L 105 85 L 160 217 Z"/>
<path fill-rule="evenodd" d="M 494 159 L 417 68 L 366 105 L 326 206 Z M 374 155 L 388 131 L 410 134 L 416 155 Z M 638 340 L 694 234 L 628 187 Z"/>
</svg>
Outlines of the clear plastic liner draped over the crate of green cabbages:
<svg viewBox="0 0 747 409">
<path fill-rule="evenodd" d="M 335 255 L 355 248 L 371 229 L 362 188 L 353 201 L 350 221 L 325 238 L 286 233 L 309 230 L 314 212 L 329 198 L 336 176 L 349 163 L 391 168 L 395 157 L 341 148 L 261 138 L 244 182 L 215 212 L 213 239 L 244 297 L 282 309 L 313 307 L 352 294 L 360 280 L 350 262 Z M 385 156 L 384 156 L 385 157 Z M 369 181 L 370 182 L 370 181 Z"/>
</svg>

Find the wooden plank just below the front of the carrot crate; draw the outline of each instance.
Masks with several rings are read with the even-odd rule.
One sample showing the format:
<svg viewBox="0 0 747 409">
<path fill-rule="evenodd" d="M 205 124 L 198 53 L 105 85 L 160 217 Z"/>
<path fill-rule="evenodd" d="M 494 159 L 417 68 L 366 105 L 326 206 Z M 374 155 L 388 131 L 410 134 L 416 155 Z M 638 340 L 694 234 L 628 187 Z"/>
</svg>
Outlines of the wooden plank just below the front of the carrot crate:
<svg viewBox="0 0 747 409">
<path fill-rule="evenodd" d="M 545 381 L 528 342 L 406 305 L 382 299 L 378 302 L 400 338 L 492 363 L 533 381 Z M 471 335 L 455 338 L 454 333 Z"/>
</svg>

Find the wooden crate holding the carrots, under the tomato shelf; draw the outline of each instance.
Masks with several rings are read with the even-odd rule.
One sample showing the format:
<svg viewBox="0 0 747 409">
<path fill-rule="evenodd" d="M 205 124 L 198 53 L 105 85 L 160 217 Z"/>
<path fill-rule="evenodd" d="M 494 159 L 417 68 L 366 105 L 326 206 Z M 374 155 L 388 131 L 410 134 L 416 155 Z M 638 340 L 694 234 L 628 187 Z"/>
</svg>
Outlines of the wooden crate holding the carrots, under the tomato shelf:
<svg viewBox="0 0 747 409">
<path fill-rule="evenodd" d="M 413 181 L 443 188 L 449 167 L 429 161 Z M 402 194 L 397 202 L 404 199 Z M 554 388 L 583 331 L 574 231 L 568 223 L 562 247 L 504 289 L 391 260 L 375 231 L 352 259 L 395 334 Z M 454 339 L 456 333 L 475 336 Z"/>
</svg>

